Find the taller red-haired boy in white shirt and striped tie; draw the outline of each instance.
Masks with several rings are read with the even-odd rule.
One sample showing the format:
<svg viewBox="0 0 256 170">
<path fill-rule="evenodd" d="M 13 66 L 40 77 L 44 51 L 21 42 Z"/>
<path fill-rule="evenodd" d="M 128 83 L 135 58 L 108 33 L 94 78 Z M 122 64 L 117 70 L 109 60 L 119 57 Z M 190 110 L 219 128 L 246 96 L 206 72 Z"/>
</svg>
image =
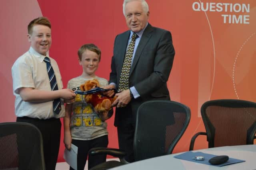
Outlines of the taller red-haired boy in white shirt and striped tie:
<svg viewBox="0 0 256 170">
<path fill-rule="evenodd" d="M 18 122 L 32 123 L 41 131 L 46 170 L 55 170 L 60 147 L 59 118 L 65 114 L 64 102 L 74 102 L 76 94 L 70 89 L 62 89 L 58 64 L 49 56 L 52 37 L 47 18 L 39 17 L 28 24 L 28 41 L 30 49 L 12 66 L 15 114 Z M 49 67 L 44 59 L 50 62 Z M 50 67 L 54 72 L 51 78 Z M 53 90 L 50 79 L 54 79 Z M 58 103 L 58 111 L 54 101 Z"/>
</svg>

